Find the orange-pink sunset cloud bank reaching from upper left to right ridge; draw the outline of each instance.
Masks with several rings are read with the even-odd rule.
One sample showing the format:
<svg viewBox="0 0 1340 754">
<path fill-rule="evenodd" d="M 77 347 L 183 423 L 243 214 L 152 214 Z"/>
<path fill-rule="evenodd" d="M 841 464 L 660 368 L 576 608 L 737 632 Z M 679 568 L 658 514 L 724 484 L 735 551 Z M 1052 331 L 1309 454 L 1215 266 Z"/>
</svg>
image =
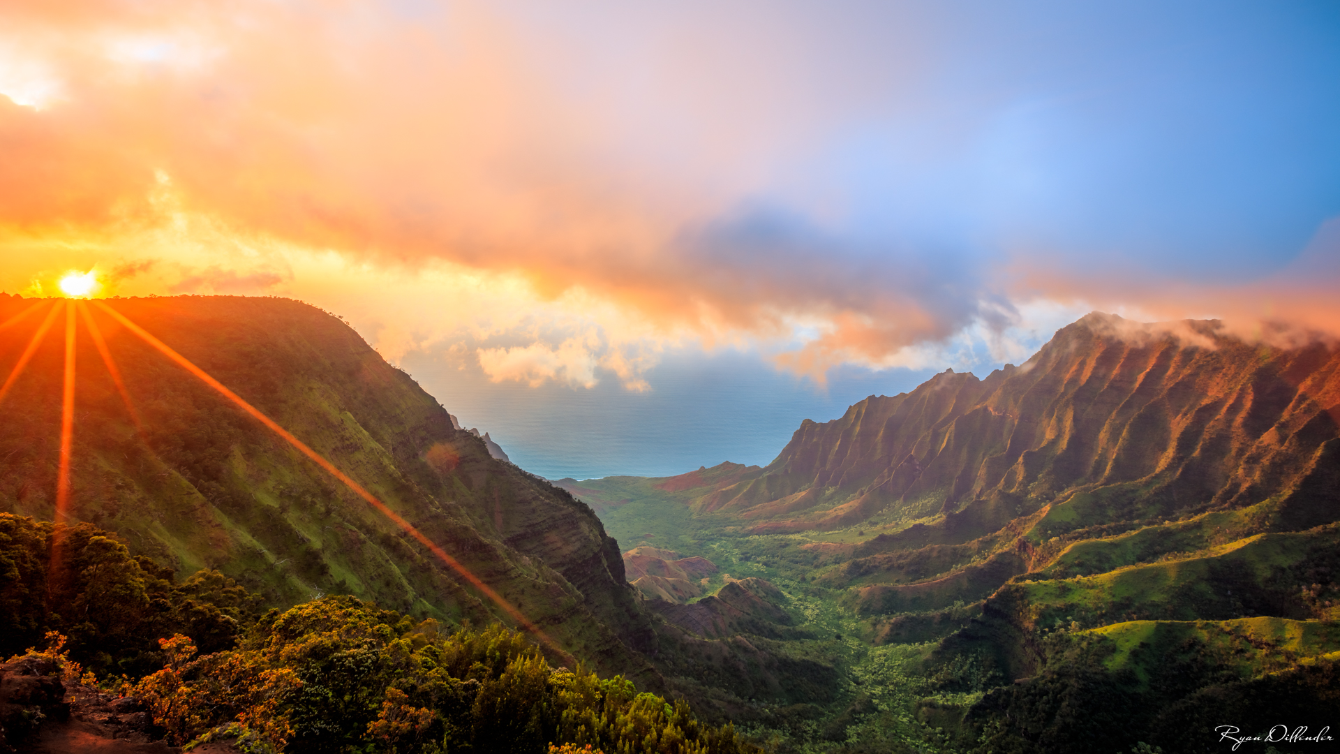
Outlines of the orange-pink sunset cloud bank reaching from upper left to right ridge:
<svg viewBox="0 0 1340 754">
<path fill-rule="evenodd" d="M 606 323 L 647 323 L 627 342 L 651 330 L 766 339 L 784 343 L 779 364 L 816 377 L 844 361 L 915 361 L 966 327 L 1000 334 L 1020 322 L 1017 302 L 1038 298 L 1340 331 L 1333 297 L 1296 280 L 1095 282 L 1026 259 L 997 280 L 990 260 L 867 254 L 741 213 L 770 161 L 828 123 L 804 97 L 900 86 L 896 66 L 832 86 L 792 60 L 807 42 L 788 28 L 760 27 L 745 60 L 729 32 L 666 21 L 639 52 L 651 80 L 602 68 L 592 90 L 553 62 L 607 60 L 486 3 L 415 16 L 356 0 L 5 3 L 0 67 L 20 74 L 0 87 L 52 94 L 36 107 L 0 97 L 0 231 L 125 251 L 205 219 L 239 248 L 269 239 L 385 268 L 445 262 L 521 279 L 539 303 L 580 290 L 608 305 Z M 900 40 L 917 50 L 914 35 Z M 293 282 L 264 259 L 200 264 L 197 250 L 188 264 L 170 246 L 155 270 L 194 270 L 163 283 L 172 291 Z M 422 342 L 402 330 L 397 349 Z M 536 341 L 478 356 L 494 380 L 590 385 L 600 366 L 643 389 L 655 349 Z"/>
</svg>

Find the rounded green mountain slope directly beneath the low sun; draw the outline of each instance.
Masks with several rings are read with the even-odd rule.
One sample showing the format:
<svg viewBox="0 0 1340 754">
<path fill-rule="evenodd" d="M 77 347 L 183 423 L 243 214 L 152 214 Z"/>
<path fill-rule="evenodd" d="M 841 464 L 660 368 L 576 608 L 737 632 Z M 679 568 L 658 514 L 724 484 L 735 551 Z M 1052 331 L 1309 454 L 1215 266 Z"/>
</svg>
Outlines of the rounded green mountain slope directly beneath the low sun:
<svg viewBox="0 0 1340 754">
<path fill-rule="evenodd" d="M 348 325 L 295 301 L 111 299 L 441 545 L 574 656 L 639 686 L 654 635 L 615 542 L 567 492 L 490 457 L 482 439 L 386 364 Z M 0 374 L 48 307 L 0 297 Z M 498 618 L 490 600 L 387 517 L 218 392 L 88 306 L 139 425 L 78 321 L 67 515 L 114 531 L 178 574 L 218 569 L 271 605 L 351 593 L 452 623 Z M 0 404 L 0 511 L 51 521 L 64 317 Z"/>
</svg>

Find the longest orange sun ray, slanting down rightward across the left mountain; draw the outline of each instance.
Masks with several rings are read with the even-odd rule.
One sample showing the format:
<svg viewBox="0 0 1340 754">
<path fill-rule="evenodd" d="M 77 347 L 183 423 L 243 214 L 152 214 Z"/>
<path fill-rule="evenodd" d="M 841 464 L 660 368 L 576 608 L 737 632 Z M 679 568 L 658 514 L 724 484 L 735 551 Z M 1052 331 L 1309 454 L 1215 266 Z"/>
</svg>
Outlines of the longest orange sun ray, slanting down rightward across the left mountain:
<svg viewBox="0 0 1340 754">
<path fill-rule="evenodd" d="M 521 627 L 524 627 L 527 631 L 529 631 L 531 633 L 533 633 L 537 639 L 540 639 L 541 641 L 544 641 L 544 644 L 547 644 L 549 648 L 552 648 L 552 649 L 555 649 L 557 652 L 561 652 L 563 655 L 567 655 L 567 652 L 564 652 L 563 648 L 560 648 L 557 644 L 555 644 L 552 639 L 549 639 L 543 631 L 540 631 L 540 627 L 537 627 L 533 623 L 531 623 L 531 620 L 527 618 L 524 614 L 521 614 L 520 610 L 517 610 L 516 608 L 513 608 L 511 602 L 508 602 L 507 600 L 504 600 L 501 594 L 498 594 L 497 592 L 494 592 L 488 584 L 484 584 L 484 581 L 481 581 L 480 577 L 477 577 L 473 573 L 470 573 L 469 569 L 466 569 L 464 565 L 461 565 L 460 561 L 457 561 L 456 558 L 453 558 L 452 555 L 449 555 L 446 553 L 446 550 L 444 550 L 442 547 L 438 547 L 431 539 L 429 539 L 418 529 L 415 529 L 414 525 L 411 525 L 410 522 L 407 522 L 403 518 L 401 518 L 399 514 L 397 514 L 391 508 L 386 507 L 386 503 L 383 503 L 382 500 L 377 499 L 377 496 L 374 496 L 371 492 L 368 492 L 362 484 L 359 484 L 358 482 L 354 482 L 354 479 L 351 479 L 343 471 L 335 468 L 335 466 L 331 462 L 326 460 L 320 453 L 318 453 L 316 451 L 314 451 L 310 447 L 307 447 L 307 443 L 303 443 L 302 440 L 299 440 L 297 437 L 295 437 L 291 432 L 288 432 L 287 429 L 284 429 L 283 427 L 280 427 L 279 424 L 276 424 L 272 419 L 269 419 L 268 416 L 265 416 L 264 413 L 261 413 L 260 409 L 257 409 L 256 407 L 253 407 L 249 402 L 247 402 L 245 400 L 243 400 L 243 397 L 239 396 L 237 393 L 234 393 L 234 392 L 229 390 L 228 388 L 225 388 L 222 382 L 220 382 L 218 380 L 214 380 L 213 377 L 210 377 L 208 372 L 205 372 L 204 369 L 196 366 L 190 360 L 188 360 L 186 357 L 184 357 L 180 353 L 177 353 L 176 350 L 173 350 L 168 343 L 165 343 L 165 342 L 159 341 L 158 338 L 153 337 L 151 334 L 149 334 L 149 331 L 146 331 L 139 325 L 135 325 L 134 322 L 131 322 L 129 318 L 126 318 L 126 315 L 121 314 L 115 309 L 111 309 L 110 306 L 107 306 L 106 303 L 103 303 L 100 301 L 94 301 L 92 303 L 95 303 L 99 309 L 102 309 L 103 311 L 106 311 L 107 314 L 110 314 L 113 318 L 115 318 L 118 322 L 121 322 L 122 325 L 125 325 L 127 330 L 130 330 L 131 333 L 139 335 L 146 343 L 149 343 L 150 346 L 158 349 L 158 352 L 161 352 L 163 356 L 166 356 L 172 361 L 176 361 L 178 366 L 181 366 L 186 372 L 190 372 L 197 378 L 200 378 L 202 382 L 205 382 L 210 388 L 218 390 L 224 397 L 226 397 L 228 400 L 230 400 L 234 404 L 237 404 L 239 408 L 241 408 L 247 413 L 252 415 L 253 419 L 256 419 L 257 421 L 260 421 L 261 424 L 264 424 L 265 427 L 268 427 L 272 432 L 275 432 L 276 435 L 279 435 L 280 437 L 283 437 L 284 440 L 287 440 L 288 444 L 291 444 L 295 448 L 297 448 L 299 452 L 302 452 L 303 455 L 306 455 L 307 457 L 310 457 L 314 463 L 316 463 L 316 466 L 324 468 L 331 476 L 334 476 L 335 479 L 339 479 L 340 482 L 343 482 L 346 487 L 348 487 L 350 490 L 352 490 L 354 492 L 356 492 L 358 496 L 360 496 L 364 500 L 367 500 L 367 503 L 370 506 L 373 506 L 374 508 L 377 508 L 382 515 L 385 515 L 386 518 L 389 518 L 393 523 L 395 523 L 397 526 L 399 526 L 401 529 L 403 529 L 406 534 L 409 534 L 410 537 L 413 537 L 414 539 L 417 539 L 421 545 L 423 545 L 425 547 L 427 547 L 429 551 L 431 551 L 434 555 L 438 557 L 438 559 L 441 559 L 444 563 L 446 563 L 453 570 L 456 570 L 456 573 L 461 574 L 462 578 L 465 578 L 466 581 L 469 581 L 476 589 L 478 589 L 481 593 L 484 593 L 484 596 L 486 596 L 489 600 L 492 600 L 494 604 L 497 604 L 497 606 L 503 608 L 503 610 L 505 610 L 509 616 L 512 616 L 512 618 L 515 618 L 519 624 L 521 624 Z"/>
</svg>

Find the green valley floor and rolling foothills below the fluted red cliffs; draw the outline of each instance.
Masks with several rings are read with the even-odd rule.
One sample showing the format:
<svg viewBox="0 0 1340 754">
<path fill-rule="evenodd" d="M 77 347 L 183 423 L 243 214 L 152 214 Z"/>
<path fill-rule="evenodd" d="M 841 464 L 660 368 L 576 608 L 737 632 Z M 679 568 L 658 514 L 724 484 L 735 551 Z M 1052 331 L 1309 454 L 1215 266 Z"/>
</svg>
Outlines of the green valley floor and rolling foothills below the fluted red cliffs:
<svg viewBox="0 0 1340 754">
<path fill-rule="evenodd" d="M 898 549 L 871 550 L 943 514 L 883 511 L 831 531 L 758 534 L 738 519 L 694 514 L 685 492 L 657 488 L 665 480 L 559 484 L 592 504 L 620 542 L 643 604 L 665 617 L 662 636 L 694 639 L 673 644 L 686 656 L 661 657 L 677 691 L 714 700 L 772 750 L 985 751 L 993 741 L 1010 750 L 1028 734 L 1001 734 L 992 720 L 1018 714 L 1028 694 L 1049 684 L 1077 708 L 1095 704 L 1095 694 L 1115 695 L 1138 718 L 1127 734 L 1142 741 L 1171 724 L 1160 708 L 1181 704 L 1179 719 L 1194 727 L 1209 698 L 1241 706 L 1272 684 L 1293 695 L 1289 704 L 1304 700 L 1289 719 L 1336 708 L 1335 692 L 1316 686 L 1340 660 L 1340 593 L 1331 581 L 1340 572 L 1329 570 L 1340 566 L 1340 526 L 1272 531 L 1278 500 L 1041 538 L 1052 522 L 1084 515 L 1091 495 L 1068 503 L 1075 510 L 1026 517 L 1030 529 L 1016 530 L 1009 547 L 990 537 L 947 554 L 909 547 L 926 572 L 909 574 L 917 563 Z M 1041 555 L 992 582 L 992 562 L 1013 557 L 1018 534 L 1040 538 Z M 943 562 L 926 565 L 937 554 Z M 750 664 L 750 651 L 770 661 Z M 702 660 L 713 652 L 733 655 L 740 672 L 776 678 L 713 676 Z M 816 691 L 813 668 L 787 660 L 831 675 Z M 805 678 L 788 676 L 788 667 Z M 1088 675 L 1067 675 L 1076 669 Z M 1265 707 L 1261 715 L 1281 702 Z M 1043 729 L 1068 724 L 1055 708 L 1028 714 L 1047 718 L 1032 720 Z"/>
</svg>

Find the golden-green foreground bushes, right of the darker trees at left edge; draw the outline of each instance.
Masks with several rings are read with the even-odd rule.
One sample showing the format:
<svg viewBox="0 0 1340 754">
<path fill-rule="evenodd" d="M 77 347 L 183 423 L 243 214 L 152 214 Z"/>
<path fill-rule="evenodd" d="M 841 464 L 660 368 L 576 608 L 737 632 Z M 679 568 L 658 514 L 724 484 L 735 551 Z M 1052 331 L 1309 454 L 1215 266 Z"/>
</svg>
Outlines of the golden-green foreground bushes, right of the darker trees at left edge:
<svg viewBox="0 0 1340 754">
<path fill-rule="evenodd" d="M 237 649 L 194 657 L 161 641 L 168 665 L 129 691 L 174 743 L 232 738 L 252 750 L 753 751 L 729 724 L 620 676 L 553 668 L 498 624 L 442 632 L 354 597 L 267 613 Z"/>
</svg>

